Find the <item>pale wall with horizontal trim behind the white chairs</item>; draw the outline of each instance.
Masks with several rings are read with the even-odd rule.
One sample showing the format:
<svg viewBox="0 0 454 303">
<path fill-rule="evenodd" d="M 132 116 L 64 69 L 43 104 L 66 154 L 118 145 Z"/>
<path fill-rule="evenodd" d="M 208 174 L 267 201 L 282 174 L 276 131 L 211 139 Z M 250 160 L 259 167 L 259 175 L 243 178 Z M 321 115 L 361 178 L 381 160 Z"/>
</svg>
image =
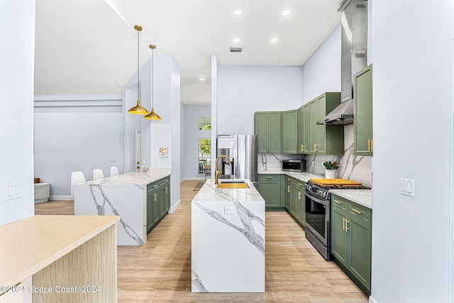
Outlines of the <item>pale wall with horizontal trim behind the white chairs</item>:
<svg viewBox="0 0 454 303">
<path fill-rule="evenodd" d="M 71 172 L 123 172 L 120 96 L 35 96 L 35 177 L 50 183 L 51 199 L 71 199 Z"/>
</svg>

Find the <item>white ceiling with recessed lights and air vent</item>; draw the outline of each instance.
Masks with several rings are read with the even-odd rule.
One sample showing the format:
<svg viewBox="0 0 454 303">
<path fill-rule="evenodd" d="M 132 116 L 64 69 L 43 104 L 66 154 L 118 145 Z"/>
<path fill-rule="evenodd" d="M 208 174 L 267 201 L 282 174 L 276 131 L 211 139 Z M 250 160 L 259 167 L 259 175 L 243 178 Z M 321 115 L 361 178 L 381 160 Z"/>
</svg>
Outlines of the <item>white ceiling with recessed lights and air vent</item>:
<svg viewBox="0 0 454 303">
<path fill-rule="evenodd" d="M 137 70 L 139 24 L 140 65 L 155 44 L 181 69 L 182 103 L 209 104 L 211 53 L 219 65 L 303 65 L 340 23 L 342 2 L 36 0 L 35 94 L 121 94 Z"/>
</svg>

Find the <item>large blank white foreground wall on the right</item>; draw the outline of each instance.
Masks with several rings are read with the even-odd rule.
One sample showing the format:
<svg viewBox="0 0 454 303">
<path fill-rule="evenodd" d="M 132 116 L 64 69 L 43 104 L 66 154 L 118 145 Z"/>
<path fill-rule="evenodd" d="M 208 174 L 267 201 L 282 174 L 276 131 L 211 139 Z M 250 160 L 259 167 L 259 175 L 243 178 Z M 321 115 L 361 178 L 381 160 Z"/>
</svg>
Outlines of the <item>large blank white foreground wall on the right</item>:
<svg viewBox="0 0 454 303">
<path fill-rule="evenodd" d="M 449 302 L 453 1 L 372 5 L 372 297 Z"/>
</svg>

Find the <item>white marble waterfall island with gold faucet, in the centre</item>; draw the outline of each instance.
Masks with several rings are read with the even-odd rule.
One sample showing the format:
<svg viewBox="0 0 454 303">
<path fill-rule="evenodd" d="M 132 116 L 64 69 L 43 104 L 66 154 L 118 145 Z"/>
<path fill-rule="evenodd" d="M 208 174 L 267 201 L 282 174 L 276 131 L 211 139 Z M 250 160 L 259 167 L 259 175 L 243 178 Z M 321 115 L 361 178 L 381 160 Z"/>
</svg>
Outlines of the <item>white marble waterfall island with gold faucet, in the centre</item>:
<svg viewBox="0 0 454 303">
<path fill-rule="evenodd" d="M 192 199 L 192 292 L 265 292 L 265 200 L 245 181 Z"/>
</svg>

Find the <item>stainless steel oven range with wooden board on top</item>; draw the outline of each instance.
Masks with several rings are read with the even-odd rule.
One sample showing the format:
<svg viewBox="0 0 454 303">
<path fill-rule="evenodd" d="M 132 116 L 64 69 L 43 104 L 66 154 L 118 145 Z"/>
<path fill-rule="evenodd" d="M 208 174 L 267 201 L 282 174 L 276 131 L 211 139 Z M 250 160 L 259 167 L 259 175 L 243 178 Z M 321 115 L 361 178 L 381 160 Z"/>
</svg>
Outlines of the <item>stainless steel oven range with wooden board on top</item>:
<svg viewBox="0 0 454 303">
<path fill-rule="evenodd" d="M 306 189 L 306 238 L 326 260 L 331 260 L 331 193 L 329 189 L 370 189 L 355 186 L 318 185 L 311 180 Z"/>
</svg>

